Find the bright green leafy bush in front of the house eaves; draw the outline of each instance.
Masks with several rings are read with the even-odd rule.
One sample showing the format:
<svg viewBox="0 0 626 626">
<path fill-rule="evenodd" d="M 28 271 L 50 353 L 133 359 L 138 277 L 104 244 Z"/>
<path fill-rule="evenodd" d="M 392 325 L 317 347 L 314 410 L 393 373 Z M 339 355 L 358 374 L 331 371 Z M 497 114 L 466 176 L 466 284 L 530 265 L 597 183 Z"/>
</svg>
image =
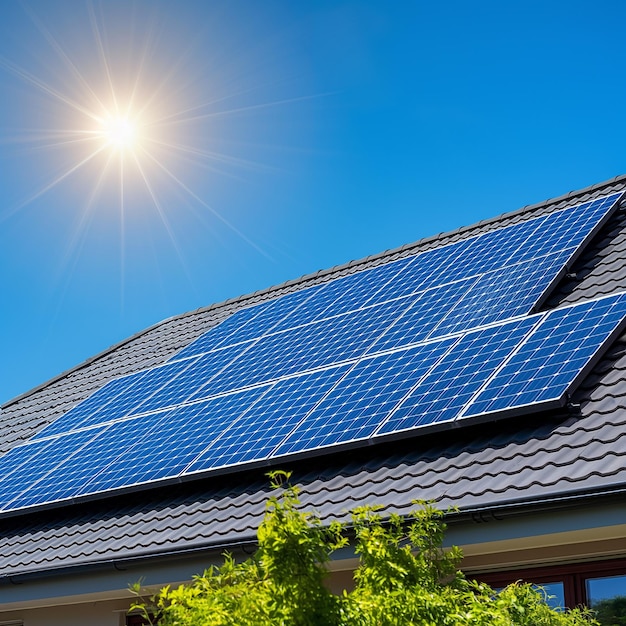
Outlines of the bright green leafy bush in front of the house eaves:
<svg viewBox="0 0 626 626">
<path fill-rule="evenodd" d="M 273 486 L 288 480 L 276 472 Z M 286 485 L 269 499 L 258 550 L 236 563 L 165 587 L 136 609 L 159 626 L 589 626 L 588 611 L 557 612 L 530 585 L 496 593 L 468 580 L 458 548 L 443 550 L 443 513 L 428 503 L 408 519 L 374 508 L 352 523 L 324 525 L 298 508 L 298 489 Z M 335 550 L 354 541 L 360 564 L 355 588 L 334 595 L 324 585 Z M 139 586 L 135 591 L 140 592 Z"/>
</svg>

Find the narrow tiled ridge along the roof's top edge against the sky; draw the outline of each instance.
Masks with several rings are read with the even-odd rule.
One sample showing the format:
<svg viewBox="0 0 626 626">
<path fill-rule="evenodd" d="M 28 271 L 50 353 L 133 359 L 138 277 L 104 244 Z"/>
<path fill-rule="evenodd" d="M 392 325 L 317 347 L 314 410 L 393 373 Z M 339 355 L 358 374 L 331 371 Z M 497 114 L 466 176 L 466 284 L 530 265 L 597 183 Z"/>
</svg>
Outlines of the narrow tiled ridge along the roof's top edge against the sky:
<svg viewBox="0 0 626 626">
<path fill-rule="evenodd" d="M 342 271 L 345 271 L 347 269 L 350 269 L 352 267 L 357 267 L 357 266 L 361 266 L 361 265 L 366 265 L 368 263 L 372 263 L 373 261 L 376 261 L 378 259 L 383 259 L 383 258 L 387 258 L 387 257 L 391 257 L 394 254 L 401 254 L 403 252 L 406 252 L 407 250 L 411 250 L 417 247 L 421 247 L 424 246 L 426 244 L 435 242 L 435 241 L 442 241 L 445 239 L 450 239 L 451 237 L 455 236 L 455 235 L 460 235 L 460 234 L 465 234 L 468 233 L 472 230 L 475 230 L 477 227 L 483 227 L 483 226 L 488 226 L 490 224 L 496 224 L 497 222 L 501 222 L 504 219 L 508 219 L 511 217 L 515 217 L 517 215 L 522 215 L 524 213 L 530 213 L 532 211 L 536 211 L 538 209 L 541 209 L 542 207 L 547 207 L 550 206 L 552 204 L 558 204 L 559 202 L 563 202 L 565 200 L 571 200 L 577 196 L 582 196 L 585 194 L 589 194 L 592 193 L 594 191 L 598 191 L 599 189 L 603 189 L 605 187 L 608 187 L 610 185 L 615 185 L 617 183 L 620 182 L 626 182 L 626 174 L 621 174 L 619 176 L 615 176 L 614 178 L 605 180 L 603 182 L 600 183 L 595 183 L 593 185 L 590 185 L 588 187 L 584 187 L 583 189 L 579 189 L 579 190 L 575 190 L 575 191 L 569 191 L 568 193 L 562 194 L 560 196 L 557 196 L 555 198 L 549 198 L 547 200 L 544 200 L 542 202 L 538 202 L 535 204 L 530 204 L 530 205 L 526 205 L 523 206 L 520 209 L 516 209 L 514 211 L 509 211 L 509 212 L 505 212 L 505 213 L 501 213 L 498 216 L 492 217 L 492 218 L 488 218 L 485 220 L 480 220 L 478 222 L 475 222 L 473 224 L 469 224 L 466 226 L 461 226 L 457 229 L 451 230 L 451 231 L 446 231 L 446 232 L 441 232 L 438 233 L 436 235 L 430 235 L 428 237 L 424 237 L 422 239 L 418 239 L 415 242 L 412 243 L 407 243 L 407 244 L 403 244 L 402 246 L 399 246 L 397 248 L 390 248 L 387 249 L 383 252 L 379 252 L 376 254 L 372 254 L 372 255 L 368 255 L 366 257 L 363 257 L 361 259 L 355 259 L 352 261 L 348 261 L 346 263 L 342 263 L 339 265 L 334 265 L 330 268 L 326 268 L 326 269 L 320 269 L 317 270 L 315 272 L 311 272 L 310 274 L 304 274 L 298 278 L 292 278 L 289 279 L 283 283 L 280 283 L 278 285 L 271 285 L 270 287 L 265 287 L 263 289 L 258 289 L 257 291 L 254 291 L 252 293 L 248 293 L 248 294 L 241 294 L 239 296 L 235 296 L 232 298 L 228 298 L 226 300 L 223 300 L 221 302 L 216 302 L 213 304 L 210 304 L 208 306 L 204 306 L 204 307 L 199 307 L 197 309 L 193 309 L 191 311 L 186 311 L 184 313 L 180 313 L 177 315 L 173 315 L 170 317 L 167 317 L 159 322 L 156 322 L 150 326 L 148 326 L 147 328 L 140 330 L 136 333 L 134 333 L 133 335 L 131 335 L 130 337 L 127 337 L 126 339 L 123 339 L 122 341 L 119 341 L 111 346 L 109 346 L 108 348 L 102 350 L 101 352 L 99 352 L 98 354 L 95 354 L 94 356 L 91 356 L 87 359 L 85 359 L 84 361 L 82 361 L 81 363 L 61 372 L 60 374 L 48 379 L 47 381 L 44 381 L 43 383 L 37 385 L 36 387 L 33 387 L 32 389 L 29 389 L 28 391 L 19 394 L 18 396 L 12 398 L 11 400 L 9 400 L 8 402 L 6 402 L 3 405 L 0 405 L 0 411 L 4 410 L 6 408 L 8 408 L 9 406 L 23 400 L 24 398 L 31 396 L 35 393 L 37 393 L 38 391 L 48 387 L 49 385 L 69 376 L 70 374 L 77 372 L 89 365 L 91 365 L 93 362 L 105 357 L 108 354 L 111 354 L 113 352 L 115 352 L 116 350 L 118 350 L 119 348 L 129 344 L 132 341 L 135 341 L 136 339 L 139 339 L 140 337 L 147 335 L 148 333 L 156 330 L 157 328 L 159 328 L 160 326 L 163 326 L 164 324 L 168 323 L 168 322 L 172 322 L 175 320 L 182 320 L 186 317 L 191 317 L 194 315 L 198 315 L 201 313 L 208 313 L 208 312 L 217 312 L 221 309 L 227 309 L 228 307 L 233 306 L 234 304 L 237 303 L 245 303 L 245 302 L 253 302 L 255 298 L 258 297 L 262 297 L 265 296 L 267 294 L 271 294 L 273 292 L 280 292 L 281 290 L 284 289 L 288 289 L 290 287 L 293 287 L 294 285 L 300 284 L 300 283 L 306 283 L 306 282 L 310 282 L 310 281 L 314 281 L 320 277 L 323 276 L 327 276 L 330 274 L 336 274 Z"/>
</svg>

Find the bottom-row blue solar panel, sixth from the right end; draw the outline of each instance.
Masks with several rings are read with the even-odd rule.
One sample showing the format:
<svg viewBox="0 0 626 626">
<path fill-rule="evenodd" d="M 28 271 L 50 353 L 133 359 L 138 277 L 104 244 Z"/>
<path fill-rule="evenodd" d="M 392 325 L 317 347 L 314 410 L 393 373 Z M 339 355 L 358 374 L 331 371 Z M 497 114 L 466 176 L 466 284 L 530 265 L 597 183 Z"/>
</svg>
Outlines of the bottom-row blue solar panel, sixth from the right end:
<svg viewBox="0 0 626 626">
<path fill-rule="evenodd" d="M 103 469 L 123 460 L 128 449 L 146 440 L 159 427 L 166 413 L 125 419 L 100 429 L 80 450 L 69 452 L 41 480 L 25 489 L 10 504 L 11 509 L 73 498 Z M 93 433 L 92 433 L 93 436 Z M 181 433 L 184 436 L 184 433 Z M 122 445 L 121 445 L 122 444 Z M 139 452 L 138 454 L 141 454 Z"/>
</svg>

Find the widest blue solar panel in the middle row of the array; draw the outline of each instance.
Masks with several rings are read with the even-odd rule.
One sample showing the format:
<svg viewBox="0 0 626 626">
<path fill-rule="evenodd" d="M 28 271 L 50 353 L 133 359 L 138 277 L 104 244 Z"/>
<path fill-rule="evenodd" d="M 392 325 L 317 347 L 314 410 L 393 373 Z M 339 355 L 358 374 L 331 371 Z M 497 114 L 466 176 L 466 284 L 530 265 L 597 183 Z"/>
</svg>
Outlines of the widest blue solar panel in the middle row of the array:
<svg viewBox="0 0 626 626">
<path fill-rule="evenodd" d="M 190 399 L 358 358 L 409 305 L 403 298 L 263 337 Z"/>
</svg>

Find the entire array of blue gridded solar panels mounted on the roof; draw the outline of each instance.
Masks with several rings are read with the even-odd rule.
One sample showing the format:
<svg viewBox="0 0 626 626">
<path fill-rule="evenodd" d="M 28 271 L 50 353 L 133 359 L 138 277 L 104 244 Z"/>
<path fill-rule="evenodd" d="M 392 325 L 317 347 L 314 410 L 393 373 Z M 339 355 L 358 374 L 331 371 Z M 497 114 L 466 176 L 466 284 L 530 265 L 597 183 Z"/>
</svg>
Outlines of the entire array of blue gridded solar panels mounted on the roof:
<svg viewBox="0 0 626 626">
<path fill-rule="evenodd" d="M 626 294 L 533 311 L 619 198 L 239 310 L 0 458 L 0 512 L 562 406 Z"/>
</svg>

